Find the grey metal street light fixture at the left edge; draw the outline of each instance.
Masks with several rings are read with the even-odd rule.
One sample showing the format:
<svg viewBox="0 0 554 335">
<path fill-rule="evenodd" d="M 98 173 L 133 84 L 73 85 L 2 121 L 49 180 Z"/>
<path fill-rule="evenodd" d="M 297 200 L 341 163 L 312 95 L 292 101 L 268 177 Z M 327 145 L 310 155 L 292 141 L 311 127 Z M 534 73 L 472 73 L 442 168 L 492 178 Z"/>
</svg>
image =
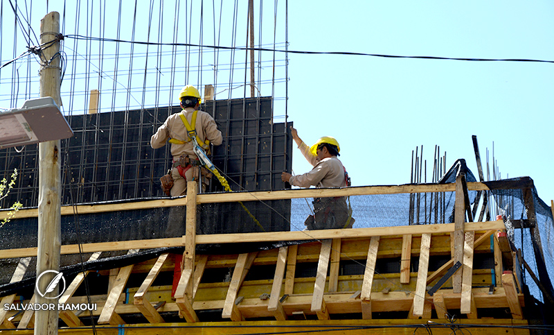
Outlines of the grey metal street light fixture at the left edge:
<svg viewBox="0 0 554 335">
<path fill-rule="evenodd" d="M 21 109 L 0 113 L 0 149 L 71 136 L 73 130 L 50 96 L 29 99 Z"/>
</svg>

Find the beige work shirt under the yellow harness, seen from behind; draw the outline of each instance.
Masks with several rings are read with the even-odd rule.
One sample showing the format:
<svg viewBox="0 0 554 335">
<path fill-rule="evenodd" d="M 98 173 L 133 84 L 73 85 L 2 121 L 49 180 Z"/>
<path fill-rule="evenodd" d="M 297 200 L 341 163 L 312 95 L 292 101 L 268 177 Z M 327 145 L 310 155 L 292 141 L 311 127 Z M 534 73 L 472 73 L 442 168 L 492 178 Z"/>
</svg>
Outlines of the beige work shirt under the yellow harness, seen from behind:
<svg viewBox="0 0 554 335">
<path fill-rule="evenodd" d="M 194 108 L 187 107 L 181 112 L 184 113 L 187 121 L 190 123 L 193 119 Z M 181 113 L 179 112 L 179 113 Z M 168 119 L 158 128 L 157 132 L 150 139 L 150 146 L 153 149 L 161 148 L 166 145 L 168 139 L 179 139 L 186 141 L 188 135 L 186 126 L 179 117 L 179 113 L 171 114 Z M 223 137 L 221 131 L 217 129 L 217 124 L 213 117 L 206 112 L 199 110 L 196 115 L 196 133 L 199 139 L 206 141 L 209 139 L 211 144 L 219 146 L 222 143 Z M 171 155 L 173 160 L 177 161 L 181 155 L 190 155 L 196 157 L 193 151 L 193 142 L 188 141 L 185 144 L 171 144 Z"/>
</svg>

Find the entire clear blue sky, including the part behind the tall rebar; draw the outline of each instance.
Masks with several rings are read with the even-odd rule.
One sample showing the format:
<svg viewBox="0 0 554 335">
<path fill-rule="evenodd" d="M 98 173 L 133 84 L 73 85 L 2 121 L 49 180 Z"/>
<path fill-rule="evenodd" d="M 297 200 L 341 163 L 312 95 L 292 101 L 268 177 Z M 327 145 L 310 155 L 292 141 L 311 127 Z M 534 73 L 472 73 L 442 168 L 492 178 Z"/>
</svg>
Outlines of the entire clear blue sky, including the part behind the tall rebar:
<svg viewBox="0 0 554 335">
<path fill-rule="evenodd" d="M 199 40 L 195 28 L 199 25 L 199 1 L 194 1 L 192 24 L 188 26 L 186 15 L 190 1 L 181 1 L 179 8 L 179 38 L 177 42 L 193 44 L 220 44 L 232 46 L 231 26 L 233 3 L 224 1 L 214 11 L 209 1 L 204 1 L 204 37 Z M 521 1 L 315 1 L 289 2 L 288 40 L 289 49 L 298 51 L 346 51 L 378 53 L 386 55 L 420 55 L 446 58 L 526 58 L 554 60 L 554 3 L 542 0 L 524 3 Z M 258 30 L 264 26 L 262 44 L 271 48 L 273 42 L 274 1 L 263 2 L 263 22 L 258 21 L 260 1 L 254 1 L 256 8 L 256 44 Z M 80 14 L 75 15 L 75 3 L 49 1 L 48 11 L 60 12 L 65 23 L 65 35 L 80 34 L 93 37 L 116 38 L 118 31 L 118 3 L 105 3 L 107 14 L 99 14 L 103 3 L 84 4 Z M 39 20 L 46 14 L 43 1 L 33 2 L 32 10 L 26 10 L 26 3 L 18 1 L 23 13 L 31 12 L 30 22 L 39 33 Z M 30 6 L 30 3 L 28 3 Z M 87 6 L 90 9 L 87 12 Z M 247 1 L 240 1 L 238 11 L 238 37 L 236 46 L 244 46 L 246 37 Z M 162 8 L 163 7 L 163 8 Z M 2 32 L 2 62 L 25 51 L 21 37 L 15 43 L 12 30 L 15 26 L 13 12 L 7 1 L 3 2 L 4 24 Z M 134 1 L 123 1 L 123 15 L 120 24 L 120 38 L 130 40 Z M 172 41 L 175 22 L 175 1 L 155 3 L 149 8 L 148 1 L 139 4 L 134 39 L 157 42 L 160 35 L 157 12 L 163 10 L 163 40 Z M 153 13 L 150 35 L 148 17 Z M 222 29 L 217 26 L 222 13 Z M 285 1 L 278 1 L 278 49 L 284 49 Z M 78 26 L 73 26 L 79 17 Z M 105 31 L 100 31 L 100 22 L 105 19 Z M 97 23 L 98 22 L 98 23 Z M 213 22 L 216 22 L 214 25 Z M 187 35 L 187 27 L 193 33 Z M 90 28 L 88 28 L 90 27 Z M 241 35 L 242 34 L 242 35 Z M 217 35 L 217 36 L 216 36 Z M 189 36 L 189 37 L 187 37 Z M 217 42 L 215 39 L 217 38 Z M 202 42 L 202 43 L 201 43 Z M 119 71 L 133 67 L 133 79 L 118 74 L 114 81 L 114 67 L 111 65 L 114 43 L 102 44 L 105 58 L 100 61 L 96 54 L 100 50 L 96 42 L 67 39 L 64 51 L 67 53 L 68 69 L 62 85 L 62 100 L 66 112 L 82 113 L 87 109 L 89 89 L 99 88 L 100 108 L 123 110 L 137 108 L 141 103 L 149 107 L 175 103 L 175 94 L 185 83 L 202 85 L 217 83 L 217 98 L 227 98 L 221 93 L 229 82 L 244 82 L 244 71 L 234 69 L 229 79 L 225 66 L 231 62 L 229 53 L 221 51 L 216 62 L 214 53 L 204 49 L 202 76 L 192 68 L 190 74 L 184 70 L 184 58 L 191 57 L 190 65 L 196 65 L 195 53 L 187 53 L 184 47 L 177 48 L 177 72 L 172 84 L 163 80 L 172 78 L 171 60 L 166 58 L 157 63 L 155 58 L 145 63 L 145 46 L 134 46 L 134 60 L 129 66 L 130 44 L 120 45 Z M 75 49 L 78 53 L 74 53 Z M 157 49 L 150 46 L 150 56 L 158 51 L 169 52 L 171 47 Z M 186 54 L 191 54 L 186 56 Z M 237 53 L 237 59 L 244 61 L 244 54 Z M 262 53 L 264 61 L 270 61 L 271 53 Z M 285 78 L 282 66 L 284 55 L 277 55 L 280 62 L 278 78 Z M 258 55 L 256 55 L 258 61 Z M 78 71 L 73 73 L 73 67 Z M 147 70 L 145 71 L 145 67 Z M 102 68 L 102 74 L 98 69 Z M 159 68 L 159 69 L 157 69 Z M 17 63 L 18 76 L 32 76 L 31 85 L 37 85 L 37 67 L 26 71 L 26 64 Z M 257 70 L 262 78 L 271 76 L 271 63 L 264 62 Z M 142 73 L 144 75 L 142 75 Z M 148 78 L 146 77 L 148 73 Z M 26 98 L 19 89 L 17 102 L 8 102 L 12 86 L 8 81 L 14 76 L 12 68 L 1 71 L 2 92 L 0 107 L 20 106 Z M 86 78 L 86 85 L 71 86 L 69 78 Z M 158 76 L 154 78 L 154 76 Z M 468 166 L 477 175 L 472 135 L 476 135 L 481 149 L 483 169 L 486 176 L 486 148 L 490 151 L 490 173 L 492 173 L 492 144 L 502 178 L 509 176 L 530 176 L 535 180 L 539 196 L 550 205 L 554 199 L 553 144 L 554 144 L 554 64 L 538 62 L 467 62 L 458 60 L 421 60 L 399 58 L 377 58 L 365 55 L 301 55 L 289 54 L 288 115 L 299 135 L 307 144 L 312 144 L 323 135 L 336 137 L 341 144 L 341 160 L 348 169 L 354 185 L 404 184 L 410 182 L 411 153 L 416 146 L 424 146 L 427 160 L 428 181 L 431 179 L 432 160 L 435 145 L 440 154 L 447 152 L 447 168 L 458 158 L 465 158 Z M 145 78 L 145 80 L 143 80 Z M 84 80 L 84 79 L 81 79 Z M 162 80 L 162 81 L 157 81 Z M 143 89 L 143 83 L 145 90 Z M 157 83 L 161 83 L 158 85 Z M 80 82 L 77 82 L 80 84 Z M 131 85 L 132 87 L 127 87 Z M 174 85 L 174 86 L 169 86 Z M 155 87 L 161 87 L 157 92 Z M 276 84 L 276 115 L 284 114 L 284 80 Z M 112 100 L 111 92 L 119 90 L 119 103 Z M 26 92 L 27 92 L 26 91 Z M 148 91 L 148 92 L 147 92 Z M 37 94 L 36 89 L 29 92 Z M 63 95 L 64 93 L 66 95 Z M 69 97 L 73 92 L 75 96 Z M 127 97 L 132 92 L 132 97 Z M 260 85 L 263 96 L 271 95 L 270 85 Z M 147 94 L 152 94 L 147 96 Z M 155 94 L 155 95 L 154 95 Z M 32 94 L 30 94 L 32 95 Z M 243 88 L 234 89 L 232 97 L 244 96 Z M 9 100 L 8 98 L 8 100 Z M 116 101 L 114 105 L 112 101 Z M 12 104 L 10 106 L 10 104 Z M 283 118 L 276 121 L 282 122 Z M 293 169 L 304 173 L 311 166 L 294 150 Z"/>
</svg>

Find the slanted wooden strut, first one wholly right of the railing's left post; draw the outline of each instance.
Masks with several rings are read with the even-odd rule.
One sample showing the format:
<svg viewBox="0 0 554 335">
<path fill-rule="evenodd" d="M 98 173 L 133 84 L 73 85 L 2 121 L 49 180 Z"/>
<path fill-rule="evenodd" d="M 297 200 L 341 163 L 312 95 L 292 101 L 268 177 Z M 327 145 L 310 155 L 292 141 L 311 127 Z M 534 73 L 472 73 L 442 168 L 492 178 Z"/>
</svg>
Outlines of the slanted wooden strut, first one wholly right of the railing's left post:
<svg viewBox="0 0 554 335">
<path fill-rule="evenodd" d="M 238 255 L 237 264 L 235 266 L 235 270 L 233 270 L 233 277 L 231 277 L 231 283 L 229 284 L 229 290 L 227 291 L 227 296 L 225 298 L 222 318 L 231 318 L 233 321 L 243 320 L 242 314 L 235 304 L 235 300 L 237 300 L 238 291 L 244 281 L 244 277 L 246 277 L 248 270 L 257 255 L 258 252 Z"/>
</svg>

